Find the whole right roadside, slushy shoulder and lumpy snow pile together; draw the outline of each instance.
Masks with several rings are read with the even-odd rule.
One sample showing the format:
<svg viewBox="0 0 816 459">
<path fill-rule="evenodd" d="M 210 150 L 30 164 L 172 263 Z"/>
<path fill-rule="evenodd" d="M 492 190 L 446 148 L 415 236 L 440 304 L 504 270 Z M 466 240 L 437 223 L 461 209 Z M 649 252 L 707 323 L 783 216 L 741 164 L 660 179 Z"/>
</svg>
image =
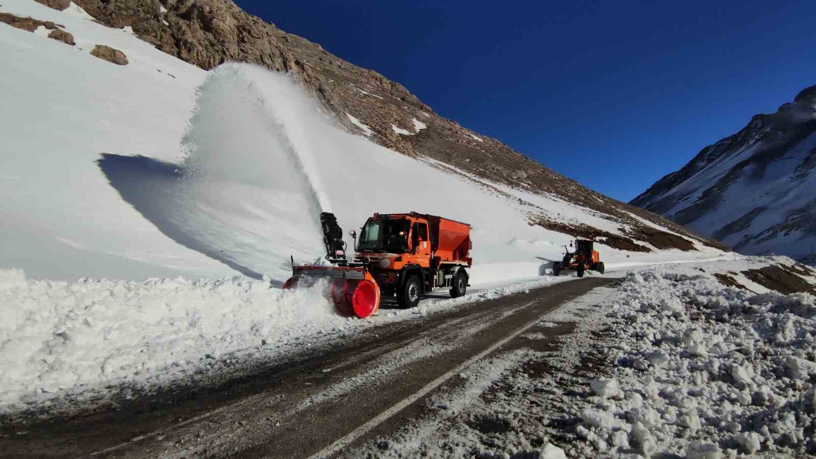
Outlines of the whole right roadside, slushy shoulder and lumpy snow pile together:
<svg viewBox="0 0 816 459">
<path fill-rule="evenodd" d="M 632 271 L 548 316 L 575 323 L 560 350 L 520 358 L 539 339 L 521 336 L 501 354 L 517 356 L 512 365 L 468 368 L 460 377 L 472 391 L 437 395 L 427 418 L 347 457 L 535 457 L 548 443 L 569 457 L 812 455 L 816 297 L 748 292 L 713 275 L 793 264 L 778 256 Z M 533 330 L 546 335 L 549 325 Z"/>
</svg>

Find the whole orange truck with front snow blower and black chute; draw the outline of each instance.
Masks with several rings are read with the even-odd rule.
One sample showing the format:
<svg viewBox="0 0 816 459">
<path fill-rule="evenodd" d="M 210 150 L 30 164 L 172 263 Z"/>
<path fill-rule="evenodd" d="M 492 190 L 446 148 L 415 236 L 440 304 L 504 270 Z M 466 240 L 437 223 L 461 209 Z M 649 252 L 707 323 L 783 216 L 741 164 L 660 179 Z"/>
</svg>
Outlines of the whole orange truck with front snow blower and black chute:
<svg viewBox="0 0 816 459">
<path fill-rule="evenodd" d="M 353 261 L 346 258 L 343 230 L 334 214 L 320 214 L 326 265 L 295 265 L 283 284 L 291 288 L 309 280 L 329 279 L 330 298 L 337 309 L 359 318 L 376 314 L 384 297 L 412 308 L 419 296 L 434 288 L 450 289 L 450 296 L 467 291 L 472 265 L 471 226 L 441 216 L 417 212 L 375 213 L 354 238 Z"/>
</svg>

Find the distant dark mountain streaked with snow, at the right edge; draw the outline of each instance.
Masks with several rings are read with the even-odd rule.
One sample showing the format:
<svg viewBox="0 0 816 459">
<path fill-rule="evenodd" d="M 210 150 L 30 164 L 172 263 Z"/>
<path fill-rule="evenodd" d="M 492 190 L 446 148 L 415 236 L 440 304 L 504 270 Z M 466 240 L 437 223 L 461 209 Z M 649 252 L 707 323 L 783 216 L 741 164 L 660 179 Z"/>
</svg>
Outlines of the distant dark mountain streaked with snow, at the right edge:
<svg viewBox="0 0 816 459">
<path fill-rule="evenodd" d="M 816 255 L 816 87 L 632 201 L 747 254 Z"/>
</svg>

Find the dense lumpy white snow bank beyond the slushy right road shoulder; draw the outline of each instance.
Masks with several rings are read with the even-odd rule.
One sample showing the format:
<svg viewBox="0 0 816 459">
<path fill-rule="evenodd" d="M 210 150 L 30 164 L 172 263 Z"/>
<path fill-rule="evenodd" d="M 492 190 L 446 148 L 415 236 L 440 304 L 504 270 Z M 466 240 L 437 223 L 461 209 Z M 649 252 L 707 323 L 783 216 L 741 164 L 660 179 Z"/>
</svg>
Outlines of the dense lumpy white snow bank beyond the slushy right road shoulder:
<svg viewBox="0 0 816 459">
<path fill-rule="evenodd" d="M 630 272 L 596 319 L 581 319 L 614 336 L 600 346 L 616 364 L 589 381 L 592 396 L 565 398 L 585 413 L 577 428 L 586 443 L 574 444 L 575 454 L 816 451 L 816 297 L 756 295 L 721 285 L 711 271 Z"/>
</svg>

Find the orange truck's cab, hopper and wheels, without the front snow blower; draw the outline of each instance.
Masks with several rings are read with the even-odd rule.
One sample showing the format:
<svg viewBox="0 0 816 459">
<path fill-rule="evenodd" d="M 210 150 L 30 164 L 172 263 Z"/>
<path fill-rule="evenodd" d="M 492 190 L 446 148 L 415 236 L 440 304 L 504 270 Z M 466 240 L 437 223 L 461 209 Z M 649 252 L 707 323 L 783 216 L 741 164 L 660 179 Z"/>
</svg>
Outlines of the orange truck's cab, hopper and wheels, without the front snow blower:
<svg viewBox="0 0 816 459">
<path fill-rule="evenodd" d="M 350 266 L 365 266 L 382 295 L 414 307 L 419 296 L 448 287 L 453 297 L 467 291 L 472 265 L 470 225 L 417 212 L 375 213 L 356 232 Z"/>
</svg>

